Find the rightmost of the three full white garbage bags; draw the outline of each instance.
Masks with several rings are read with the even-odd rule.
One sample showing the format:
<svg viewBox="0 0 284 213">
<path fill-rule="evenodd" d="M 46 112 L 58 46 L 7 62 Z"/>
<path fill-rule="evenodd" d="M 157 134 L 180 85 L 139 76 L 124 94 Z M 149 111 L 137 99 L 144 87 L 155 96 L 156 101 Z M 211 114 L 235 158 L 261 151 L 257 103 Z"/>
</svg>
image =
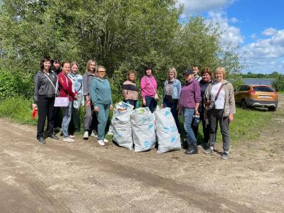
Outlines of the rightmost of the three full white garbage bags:
<svg viewBox="0 0 284 213">
<path fill-rule="evenodd" d="M 158 153 L 181 150 L 180 133 L 170 108 L 156 109 L 155 125 L 158 136 Z"/>
</svg>

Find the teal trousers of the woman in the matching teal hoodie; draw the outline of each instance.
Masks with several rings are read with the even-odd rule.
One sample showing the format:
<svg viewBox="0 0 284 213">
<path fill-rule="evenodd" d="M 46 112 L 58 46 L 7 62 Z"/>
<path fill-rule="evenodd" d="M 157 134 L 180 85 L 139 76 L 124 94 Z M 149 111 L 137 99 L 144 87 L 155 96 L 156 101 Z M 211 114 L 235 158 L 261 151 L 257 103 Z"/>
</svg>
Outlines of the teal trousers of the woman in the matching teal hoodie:
<svg viewBox="0 0 284 213">
<path fill-rule="evenodd" d="M 109 116 L 109 105 L 110 104 L 97 104 L 99 111 L 96 111 L 98 119 L 98 140 L 104 140 L 104 131 L 107 126 L 107 117 Z"/>
</svg>

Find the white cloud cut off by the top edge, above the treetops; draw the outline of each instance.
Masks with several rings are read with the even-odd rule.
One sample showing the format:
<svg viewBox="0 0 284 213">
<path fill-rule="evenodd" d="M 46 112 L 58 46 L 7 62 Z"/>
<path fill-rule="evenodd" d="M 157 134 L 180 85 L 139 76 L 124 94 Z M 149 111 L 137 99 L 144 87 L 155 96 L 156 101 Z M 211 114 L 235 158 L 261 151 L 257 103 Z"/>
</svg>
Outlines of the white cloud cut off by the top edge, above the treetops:
<svg viewBox="0 0 284 213">
<path fill-rule="evenodd" d="M 236 0 L 178 0 L 178 4 L 184 6 L 184 16 L 201 13 L 204 11 L 211 11 L 215 9 L 222 9 L 225 6 L 233 4 Z"/>
</svg>

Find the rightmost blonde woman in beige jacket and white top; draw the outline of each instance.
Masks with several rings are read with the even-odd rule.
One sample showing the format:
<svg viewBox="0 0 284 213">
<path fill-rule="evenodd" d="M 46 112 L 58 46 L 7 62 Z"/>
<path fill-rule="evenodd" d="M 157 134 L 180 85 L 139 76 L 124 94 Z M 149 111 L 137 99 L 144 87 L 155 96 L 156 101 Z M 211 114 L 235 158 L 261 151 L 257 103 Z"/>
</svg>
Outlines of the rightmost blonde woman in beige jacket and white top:
<svg viewBox="0 0 284 213">
<path fill-rule="evenodd" d="M 209 84 L 204 94 L 205 115 L 209 118 L 209 148 L 205 153 L 212 153 L 216 141 L 218 121 L 222 133 L 223 149 L 222 159 L 229 158 L 229 122 L 234 120 L 236 113 L 234 88 L 233 85 L 226 81 L 226 71 L 224 67 L 218 67 L 214 76 L 216 82 Z"/>
</svg>

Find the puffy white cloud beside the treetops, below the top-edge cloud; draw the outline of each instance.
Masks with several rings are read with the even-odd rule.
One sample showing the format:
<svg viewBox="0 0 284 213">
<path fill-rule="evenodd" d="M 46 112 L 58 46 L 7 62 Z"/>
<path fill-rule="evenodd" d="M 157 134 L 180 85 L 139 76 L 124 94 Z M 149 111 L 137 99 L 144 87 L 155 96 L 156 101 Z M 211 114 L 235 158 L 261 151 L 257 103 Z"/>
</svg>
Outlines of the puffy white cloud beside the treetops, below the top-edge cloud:
<svg viewBox="0 0 284 213">
<path fill-rule="evenodd" d="M 219 25 L 223 47 L 229 44 L 236 46 L 240 43 L 244 43 L 244 36 L 241 35 L 240 28 L 229 25 L 229 19 L 226 17 L 226 13 L 209 11 L 208 15 L 208 21 L 213 21 Z"/>
</svg>

